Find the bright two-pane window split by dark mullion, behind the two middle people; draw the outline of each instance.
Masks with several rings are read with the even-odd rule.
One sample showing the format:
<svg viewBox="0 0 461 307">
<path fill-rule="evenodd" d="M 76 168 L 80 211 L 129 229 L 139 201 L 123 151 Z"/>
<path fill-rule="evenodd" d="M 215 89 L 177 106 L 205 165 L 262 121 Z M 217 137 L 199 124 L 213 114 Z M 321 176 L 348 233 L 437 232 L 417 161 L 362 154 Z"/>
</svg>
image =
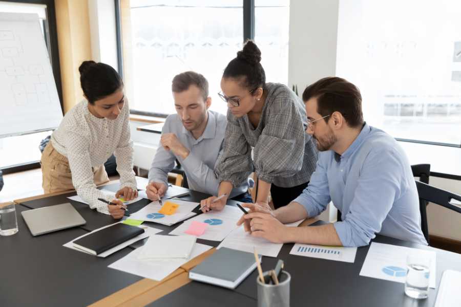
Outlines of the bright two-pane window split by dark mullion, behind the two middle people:
<svg viewBox="0 0 461 307">
<path fill-rule="evenodd" d="M 255 40 L 270 82 L 288 81 L 288 4 L 261 0 L 255 5 Z M 175 113 L 171 81 L 193 70 L 209 82 L 211 109 L 225 114 L 217 93 L 224 68 L 243 46 L 243 1 L 131 0 L 130 6 L 133 78 L 125 82 L 132 82 L 131 109 Z"/>
</svg>

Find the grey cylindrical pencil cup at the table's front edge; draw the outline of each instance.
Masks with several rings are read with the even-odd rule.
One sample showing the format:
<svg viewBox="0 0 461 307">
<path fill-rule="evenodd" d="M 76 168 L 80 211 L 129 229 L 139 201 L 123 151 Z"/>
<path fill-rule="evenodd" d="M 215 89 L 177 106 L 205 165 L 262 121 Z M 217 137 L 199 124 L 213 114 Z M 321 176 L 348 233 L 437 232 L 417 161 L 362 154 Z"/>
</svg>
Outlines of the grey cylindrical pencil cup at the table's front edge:
<svg viewBox="0 0 461 307">
<path fill-rule="evenodd" d="M 269 272 L 264 272 L 263 276 L 269 276 Z M 265 278 L 267 280 L 268 278 Z M 256 278 L 258 288 L 258 307 L 289 307 L 290 305 L 290 280 L 288 272 L 282 271 L 279 284 L 262 283 Z"/>
</svg>

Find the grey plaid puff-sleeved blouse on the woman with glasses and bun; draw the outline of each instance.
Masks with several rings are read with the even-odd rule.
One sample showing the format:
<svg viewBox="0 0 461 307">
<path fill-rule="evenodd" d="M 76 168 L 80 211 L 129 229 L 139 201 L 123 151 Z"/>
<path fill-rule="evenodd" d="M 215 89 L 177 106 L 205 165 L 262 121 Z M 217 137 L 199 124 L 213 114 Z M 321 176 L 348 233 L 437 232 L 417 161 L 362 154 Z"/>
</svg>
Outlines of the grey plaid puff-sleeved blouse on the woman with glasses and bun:
<svg viewBox="0 0 461 307">
<path fill-rule="evenodd" d="M 318 152 L 304 131 L 304 103 L 283 84 L 266 83 L 266 91 L 256 129 L 248 116 L 227 112 L 224 151 L 215 168 L 220 181 L 239 186 L 255 170 L 268 183 L 294 187 L 308 182 L 316 169 Z"/>
</svg>

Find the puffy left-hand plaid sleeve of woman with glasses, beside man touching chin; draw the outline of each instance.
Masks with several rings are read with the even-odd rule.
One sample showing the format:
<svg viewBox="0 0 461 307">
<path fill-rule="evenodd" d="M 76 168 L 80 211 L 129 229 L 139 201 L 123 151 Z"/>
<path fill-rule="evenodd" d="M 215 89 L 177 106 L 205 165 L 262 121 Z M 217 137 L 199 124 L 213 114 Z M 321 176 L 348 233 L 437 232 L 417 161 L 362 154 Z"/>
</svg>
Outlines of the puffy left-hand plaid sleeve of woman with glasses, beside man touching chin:
<svg viewBox="0 0 461 307">
<path fill-rule="evenodd" d="M 252 147 L 236 118 L 228 111 L 223 153 L 215 167 L 216 177 L 219 182 L 230 181 L 234 187 L 238 187 L 252 171 Z"/>
</svg>

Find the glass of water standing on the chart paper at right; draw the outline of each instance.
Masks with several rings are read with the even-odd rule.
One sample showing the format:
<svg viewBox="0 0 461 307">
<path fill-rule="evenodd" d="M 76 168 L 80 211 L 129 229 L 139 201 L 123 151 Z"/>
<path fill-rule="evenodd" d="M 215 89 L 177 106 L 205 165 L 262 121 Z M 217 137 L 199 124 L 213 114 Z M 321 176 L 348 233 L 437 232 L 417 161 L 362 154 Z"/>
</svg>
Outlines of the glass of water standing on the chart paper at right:
<svg viewBox="0 0 461 307">
<path fill-rule="evenodd" d="M 405 294 L 412 298 L 427 298 L 429 293 L 431 258 L 425 255 L 407 256 Z"/>
</svg>

